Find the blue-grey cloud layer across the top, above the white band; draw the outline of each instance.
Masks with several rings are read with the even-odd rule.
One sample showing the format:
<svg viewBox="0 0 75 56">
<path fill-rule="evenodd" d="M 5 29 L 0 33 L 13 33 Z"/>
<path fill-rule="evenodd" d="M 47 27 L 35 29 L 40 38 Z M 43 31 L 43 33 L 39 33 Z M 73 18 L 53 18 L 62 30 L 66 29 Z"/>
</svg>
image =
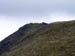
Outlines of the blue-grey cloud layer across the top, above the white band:
<svg viewBox="0 0 75 56">
<path fill-rule="evenodd" d="M 55 11 L 75 14 L 75 0 L 0 0 L 0 14 L 40 16 Z"/>
</svg>

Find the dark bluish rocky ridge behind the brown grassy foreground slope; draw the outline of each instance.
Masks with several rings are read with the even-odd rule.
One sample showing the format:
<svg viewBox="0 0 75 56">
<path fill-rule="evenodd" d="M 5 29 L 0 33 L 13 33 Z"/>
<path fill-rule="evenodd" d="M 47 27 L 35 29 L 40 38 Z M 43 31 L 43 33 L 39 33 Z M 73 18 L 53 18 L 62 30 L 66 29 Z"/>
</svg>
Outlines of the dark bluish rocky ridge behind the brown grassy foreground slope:
<svg viewBox="0 0 75 56">
<path fill-rule="evenodd" d="M 28 36 L 30 36 L 33 32 L 36 32 L 38 29 L 44 26 L 45 25 L 41 25 L 38 23 L 30 23 L 21 27 L 18 31 L 8 36 L 0 43 L 0 53 L 2 54 L 3 52 L 19 47 L 23 44 L 25 40 L 28 39 Z"/>
</svg>

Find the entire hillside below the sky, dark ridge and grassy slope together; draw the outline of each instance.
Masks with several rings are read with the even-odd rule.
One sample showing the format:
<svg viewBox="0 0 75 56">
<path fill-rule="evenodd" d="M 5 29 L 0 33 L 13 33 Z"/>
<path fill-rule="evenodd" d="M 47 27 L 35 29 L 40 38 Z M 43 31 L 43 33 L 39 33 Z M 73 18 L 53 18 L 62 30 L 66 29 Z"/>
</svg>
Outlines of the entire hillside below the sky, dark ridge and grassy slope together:
<svg viewBox="0 0 75 56">
<path fill-rule="evenodd" d="M 0 43 L 0 56 L 75 56 L 75 21 L 27 24 Z"/>
</svg>

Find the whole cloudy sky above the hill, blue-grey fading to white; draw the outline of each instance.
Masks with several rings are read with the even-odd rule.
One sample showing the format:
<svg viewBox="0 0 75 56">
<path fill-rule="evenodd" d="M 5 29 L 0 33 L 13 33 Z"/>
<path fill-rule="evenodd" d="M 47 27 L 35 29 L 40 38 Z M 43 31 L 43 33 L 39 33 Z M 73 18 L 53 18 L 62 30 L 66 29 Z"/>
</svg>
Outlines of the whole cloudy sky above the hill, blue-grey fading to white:
<svg viewBox="0 0 75 56">
<path fill-rule="evenodd" d="M 0 41 L 30 22 L 75 20 L 75 0 L 0 0 Z"/>
</svg>

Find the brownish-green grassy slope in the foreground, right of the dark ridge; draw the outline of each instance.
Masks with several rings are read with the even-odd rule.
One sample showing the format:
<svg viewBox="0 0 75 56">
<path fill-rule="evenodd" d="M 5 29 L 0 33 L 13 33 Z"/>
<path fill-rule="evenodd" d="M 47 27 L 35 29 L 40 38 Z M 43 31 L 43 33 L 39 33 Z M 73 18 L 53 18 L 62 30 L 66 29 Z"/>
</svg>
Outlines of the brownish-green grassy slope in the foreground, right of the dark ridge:
<svg viewBox="0 0 75 56">
<path fill-rule="evenodd" d="M 75 21 L 49 24 L 31 37 L 1 56 L 75 56 Z"/>
</svg>

